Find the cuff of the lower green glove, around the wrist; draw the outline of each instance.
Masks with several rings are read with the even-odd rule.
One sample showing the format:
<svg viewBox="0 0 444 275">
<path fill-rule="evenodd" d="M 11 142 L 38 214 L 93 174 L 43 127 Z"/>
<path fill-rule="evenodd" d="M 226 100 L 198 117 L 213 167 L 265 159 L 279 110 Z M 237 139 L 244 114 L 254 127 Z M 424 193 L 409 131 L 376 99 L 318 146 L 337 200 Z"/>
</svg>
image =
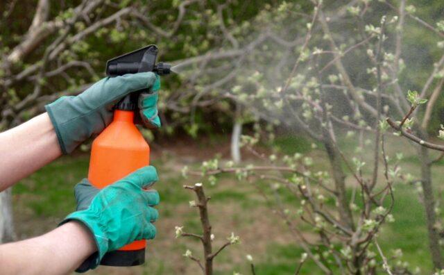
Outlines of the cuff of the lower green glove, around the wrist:
<svg viewBox="0 0 444 275">
<path fill-rule="evenodd" d="M 84 224 L 89 231 L 91 232 L 94 241 L 96 242 L 97 246 L 97 252 L 93 253 L 91 256 L 89 256 L 85 262 L 83 262 L 80 267 L 76 269 L 76 272 L 87 272 L 89 269 L 95 269 L 100 261 L 102 260 L 103 256 L 105 256 L 105 253 L 108 252 L 108 238 L 103 231 L 103 226 L 97 223 L 99 221 L 98 215 L 94 215 L 91 213 L 90 210 L 81 210 L 76 211 L 74 213 L 69 214 L 58 226 L 61 226 L 62 224 L 66 224 L 70 221 L 77 221 L 82 224 Z"/>
</svg>

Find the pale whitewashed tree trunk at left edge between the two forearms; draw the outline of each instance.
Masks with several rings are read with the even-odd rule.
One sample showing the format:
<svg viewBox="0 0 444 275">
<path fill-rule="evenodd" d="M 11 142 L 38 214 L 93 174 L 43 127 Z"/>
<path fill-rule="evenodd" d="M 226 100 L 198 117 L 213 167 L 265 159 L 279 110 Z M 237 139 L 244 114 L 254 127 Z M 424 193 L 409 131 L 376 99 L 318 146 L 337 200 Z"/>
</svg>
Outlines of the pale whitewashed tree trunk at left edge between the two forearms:
<svg viewBox="0 0 444 275">
<path fill-rule="evenodd" d="M 12 222 L 12 189 L 0 192 L 0 244 L 15 240 Z"/>
</svg>

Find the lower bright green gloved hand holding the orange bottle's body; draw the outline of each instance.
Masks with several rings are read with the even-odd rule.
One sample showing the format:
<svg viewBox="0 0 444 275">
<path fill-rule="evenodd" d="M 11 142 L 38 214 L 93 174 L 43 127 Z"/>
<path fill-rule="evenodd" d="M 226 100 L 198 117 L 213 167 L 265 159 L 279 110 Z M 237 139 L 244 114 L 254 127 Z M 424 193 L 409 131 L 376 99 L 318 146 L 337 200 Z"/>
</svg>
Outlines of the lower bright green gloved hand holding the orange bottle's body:
<svg viewBox="0 0 444 275">
<path fill-rule="evenodd" d="M 85 272 L 99 265 L 108 251 L 113 251 L 135 240 L 155 237 L 154 222 L 158 213 L 159 194 L 142 188 L 158 180 L 153 166 L 143 167 L 121 180 L 99 190 L 83 179 L 74 188 L 77 211 L 69 214 L 60 225 L 75 220 L 89 228 L 98 252 L 89 256 L 76 270 Z"/>
</svg>

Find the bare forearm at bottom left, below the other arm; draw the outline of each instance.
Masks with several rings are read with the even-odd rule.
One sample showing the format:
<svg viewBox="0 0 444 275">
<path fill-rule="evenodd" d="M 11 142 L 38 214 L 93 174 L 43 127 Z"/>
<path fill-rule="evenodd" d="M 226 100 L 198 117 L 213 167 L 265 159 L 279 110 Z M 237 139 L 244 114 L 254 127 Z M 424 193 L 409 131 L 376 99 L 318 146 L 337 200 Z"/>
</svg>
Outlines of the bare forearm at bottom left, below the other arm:
<svg viewBox="0 0 444 275">
<path fill-rule="evenodd" d="M 0 245 L 1 274 L 67 274 L 96 250 L 88 229 L 68 222 L 40 237 Z"/>
</svg>

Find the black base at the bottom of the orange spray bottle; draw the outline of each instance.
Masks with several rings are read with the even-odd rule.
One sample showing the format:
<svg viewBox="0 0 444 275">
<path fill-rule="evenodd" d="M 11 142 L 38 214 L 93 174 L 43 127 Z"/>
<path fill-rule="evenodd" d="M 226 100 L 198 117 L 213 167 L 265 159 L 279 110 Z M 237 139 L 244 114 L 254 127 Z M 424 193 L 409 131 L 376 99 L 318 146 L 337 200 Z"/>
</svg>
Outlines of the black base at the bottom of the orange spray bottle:
<svg viewBox="0 0 444 275">
<path fill-rule="evenodd" d="M 145 249 L 140 250 L 115 250 L 103 256 L 100 264 L 110 267 L 133 267 L 145 263 Z"/>
</svg>

